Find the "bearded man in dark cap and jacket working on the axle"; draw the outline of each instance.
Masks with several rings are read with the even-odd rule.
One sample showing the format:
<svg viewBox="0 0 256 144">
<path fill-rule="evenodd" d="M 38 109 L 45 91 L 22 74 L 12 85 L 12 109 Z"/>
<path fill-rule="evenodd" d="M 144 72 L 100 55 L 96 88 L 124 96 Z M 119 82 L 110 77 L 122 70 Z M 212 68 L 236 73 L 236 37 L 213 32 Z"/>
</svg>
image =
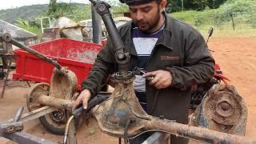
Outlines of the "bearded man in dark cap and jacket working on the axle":
<svg viewBox="0 0 256 144">
<path fill-rule="evenodd" d="M 166 0 L 126 0 L 132 22 L 118 29 L 125 50 L 130 52 L 129 69 L 138 66 L 148 73 L 136 76 L 134 90 L 148 114 L 187 123 L 191 86 L 207 82 L 214 74 L 202 35 L 164 12 Z M 99 92 L 109 74 L 118 71 L 110 40 L 98 54 L 90 74 L 82 82 L 76 104 L 84 108 Z M 146 77 L 154 77 L 150 82 Z M 186 143 L 172 138 L 172 143 Z"/>
</svg>

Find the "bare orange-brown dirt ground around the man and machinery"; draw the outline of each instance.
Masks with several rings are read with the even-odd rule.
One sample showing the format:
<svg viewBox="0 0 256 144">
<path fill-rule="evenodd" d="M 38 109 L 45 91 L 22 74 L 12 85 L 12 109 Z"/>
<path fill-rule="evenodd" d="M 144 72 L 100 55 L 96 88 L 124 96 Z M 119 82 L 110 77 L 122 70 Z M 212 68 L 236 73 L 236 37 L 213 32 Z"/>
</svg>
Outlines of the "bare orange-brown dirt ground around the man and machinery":
<svg viewBox="0 0 256 144">
<path fill-rule="evenodd" d="M 248 106 L 246 137 L 256 138 L 256 38 L 212 38 L 209 47 L 214 50 L 212 54 L 224 75 L 230 78 L 229 84 L 236 87 Z M 26 82 L 10 81 L 9 84 L 5 97 L 0 99 L 0 122 L 12 118 L 18 106 L 26 107 L 26 94 L 29 90 Z M 25 131 L 53 142 L 62 142 L 62 136 L 47 132 L 38 119 L 26 123 Z M 79 126 L 77 137 L 78 143 L 118 143 L 118 138 L 102 134 L 94 120 L 89 122 L 89 126 Z M 2 142 L 12 143 L 6 140 Z"/>
</svg>

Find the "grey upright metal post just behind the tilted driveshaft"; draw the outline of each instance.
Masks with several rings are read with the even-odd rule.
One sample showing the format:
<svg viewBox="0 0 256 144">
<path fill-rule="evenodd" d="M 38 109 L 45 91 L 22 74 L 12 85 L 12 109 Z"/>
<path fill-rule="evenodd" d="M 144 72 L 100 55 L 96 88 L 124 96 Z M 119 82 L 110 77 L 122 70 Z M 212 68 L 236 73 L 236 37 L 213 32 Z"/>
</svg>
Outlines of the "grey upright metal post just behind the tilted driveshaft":
<svg viewBox="0 0 256 144">
<path fill-rule="evenodd" d="M 93 42 L 102 43 L 102 18 L 91 4 L 91 18 L 93 22 Z"/>
</svg>

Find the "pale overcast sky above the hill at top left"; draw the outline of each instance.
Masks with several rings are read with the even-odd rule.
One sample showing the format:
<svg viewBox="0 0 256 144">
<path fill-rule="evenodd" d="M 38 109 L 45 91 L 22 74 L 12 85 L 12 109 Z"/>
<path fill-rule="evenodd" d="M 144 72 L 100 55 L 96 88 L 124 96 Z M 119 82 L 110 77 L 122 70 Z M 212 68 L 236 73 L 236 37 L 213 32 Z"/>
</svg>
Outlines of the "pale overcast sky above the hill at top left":
<svg viewBox="0 0 256 144">
<path fill-rule="evenodd" d="M 89 0 L 57 0 L 57 2 L 78 2 L 78 3 L 89 3 Z M 6 10 L 16 8 L 20 6 L 31 6 L 38 4 L 48 4 L 50 0 L 1 0 L 0 10 Z"/>
</svg>

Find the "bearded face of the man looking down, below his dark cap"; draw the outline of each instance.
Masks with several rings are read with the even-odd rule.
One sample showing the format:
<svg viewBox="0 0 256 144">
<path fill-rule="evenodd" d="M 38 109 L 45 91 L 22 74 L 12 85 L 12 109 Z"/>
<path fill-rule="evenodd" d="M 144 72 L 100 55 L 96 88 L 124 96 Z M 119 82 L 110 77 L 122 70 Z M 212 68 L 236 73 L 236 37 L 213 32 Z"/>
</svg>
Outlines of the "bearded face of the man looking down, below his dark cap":
<svg viewBox="0 0 256 144">
<path fill-rule="evenodd" d="M 151 32 L 158 26 L 161 18 L 160 5 L 156 2 L 148 2 L 142 5 L 129 6 L 130 17 L 139 30 Z"/>
</svg>

